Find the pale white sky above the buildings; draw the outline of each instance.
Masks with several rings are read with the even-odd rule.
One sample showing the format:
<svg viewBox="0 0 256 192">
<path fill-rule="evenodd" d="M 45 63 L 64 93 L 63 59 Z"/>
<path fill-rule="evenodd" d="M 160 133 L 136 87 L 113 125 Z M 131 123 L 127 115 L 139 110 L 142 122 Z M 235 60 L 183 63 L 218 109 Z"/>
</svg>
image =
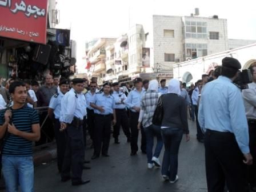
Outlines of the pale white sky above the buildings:
<svg viewBox="0 0 256 192">
<path fill-rule="evenodd" d="M 82 57 L 85 41 L 98 37 L 119 37 L 135 23 L 150 25 L 152 15 L 189 16 L 199 8 L 199 17 L 227 19 L 229 39 L 256 39 L 255 0 L 58 0 L 62 29 L 71 29 Z M 146 31 L 145 31 L 146 32 Z M 77 59 L 79 61 L 79 59 Z M 81 61 L 82 62 L 82 61 Z M 82 65 L 80 63 L 79 65 Z"/>
</svg>

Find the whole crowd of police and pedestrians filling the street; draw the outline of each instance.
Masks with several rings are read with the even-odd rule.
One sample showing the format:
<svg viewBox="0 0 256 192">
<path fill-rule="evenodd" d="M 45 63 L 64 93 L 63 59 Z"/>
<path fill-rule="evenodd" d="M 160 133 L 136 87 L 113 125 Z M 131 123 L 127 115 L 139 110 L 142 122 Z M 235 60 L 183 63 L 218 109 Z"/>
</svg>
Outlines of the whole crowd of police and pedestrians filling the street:
<svg viewBox="0 0 256 192">
<path fill-rule="evenodd" d="M 222 192 L 225 186 L 230 192 L 255 190 L 256 66 L 250 69 L 253 83 L 242 94 L 233 84 L 239 69 L 237 59 L 224 58 L 222 67 L 203 74 L 189 87 L 178 79 L 166 86 L 166 79 L 158 83 L 141 78 L 134 79 L 132 88 L 117 82 L 99 87 L 87 79 L 53 79 L 50 74 L 42 86 L 16 79 L 5 87 L 0 83 L 0 137 L 4 141 L 0 150 L 6 190 L 18 191 L 19 186 L 22 191 L 33 191 L 33 142 L 45 143 L 54 136 L 61 181 L 90 182 L 82 179 L 83 169 L 90 169 L 85 166 L 90 162 L 85 161 L 86 134 L 94 149 L 91 159 L 107 158 L 111 133 L 118 145 L 121 128 L 130 142 L 130 155 L 137 155 L 140 147 L 147 156 L 147 168 L 161 167 L 163 180 L 175 183 L 183 135 L 190 140 L 188 119 L 195 122 L 198 142 L 205 143 L 208 191 Z M 33 108 L 43 106 L 48 111 L 39 119 Z M 160 106 L 160 123 L 154 123 Z M 47 128 L 40 131 L 41 118 L 47 119 Z M 40 139 L 42 131 L 47 137 Z"/>
</svg>

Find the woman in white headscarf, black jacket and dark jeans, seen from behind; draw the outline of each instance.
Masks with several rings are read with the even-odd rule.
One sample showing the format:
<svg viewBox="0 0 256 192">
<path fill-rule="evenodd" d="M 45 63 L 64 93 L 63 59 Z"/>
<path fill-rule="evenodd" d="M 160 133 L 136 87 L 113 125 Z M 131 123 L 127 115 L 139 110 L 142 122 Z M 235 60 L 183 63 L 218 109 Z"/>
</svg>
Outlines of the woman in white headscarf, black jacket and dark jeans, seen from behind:
<svg viewBox="0 0 256 192">
<path fill-rule="evenodd" d="M 171 79 L 168 93 L 159 99 L 163 103 L 163 119 L 161 134 L 165 144 L 163 155 L 162 177 L 170 183 L 178 181 L 178 151 L 183 133 L 186 133 L 186 141 L 189 141 L 189 127 L 187 125 L 187 104 L 180 96 L 179 81 Z"/>
</svg>

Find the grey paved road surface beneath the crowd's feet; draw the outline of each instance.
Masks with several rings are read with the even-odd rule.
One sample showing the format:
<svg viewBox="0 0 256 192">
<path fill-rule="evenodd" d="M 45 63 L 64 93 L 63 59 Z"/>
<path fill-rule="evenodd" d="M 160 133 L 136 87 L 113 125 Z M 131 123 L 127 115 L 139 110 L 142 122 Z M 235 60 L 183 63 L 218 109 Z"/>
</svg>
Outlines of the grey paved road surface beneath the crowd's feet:
<svg viewBox="0 0 256 192">
<path fill-rule="evenodd" d="M 71 182 L 62 183 L 57 171 L 56 161 L 35 167 L 35 191 L 93 191 L 93 192 L 137 192 L 172 191 L 205 192 L 205 161 L 203 143 L 196 140 L 195 123 L 189 120 L 191 140 L 183 138 L 179 151 L 178 182 L 163 182 L 160 169 L 147 169 L 146 155 L 139 151 L 130 156 L 130 144 L 121 135 L 121 143 L 110 141 L 110 157 L 101 157 L 91 161 L 91 170 L 83 171 L 83 178 L 91 182 L 82 186 L 71 186 Z M 164 148 L 163 148 L 164 150 Z M 163 150 L 160 159 L 163 156 Z M 86 159 L 90 159 L 92 149 L 86 150 Z"/>
</svg>

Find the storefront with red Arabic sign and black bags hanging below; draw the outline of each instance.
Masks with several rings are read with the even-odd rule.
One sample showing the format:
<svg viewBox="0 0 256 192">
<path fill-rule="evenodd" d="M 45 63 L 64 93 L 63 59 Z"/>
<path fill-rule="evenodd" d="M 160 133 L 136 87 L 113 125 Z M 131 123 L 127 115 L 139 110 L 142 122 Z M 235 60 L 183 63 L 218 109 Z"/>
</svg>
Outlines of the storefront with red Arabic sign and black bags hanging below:
<svg viewBox="0 0 256 192">
<path fill-rule="evenodd" d="M 47 8 L 47 0 L 0 2 L 2 77 L 42 82 L 45 74 L 66 78 L 74 74 L 70 30 L 47 29 Z"/>
</svg>

